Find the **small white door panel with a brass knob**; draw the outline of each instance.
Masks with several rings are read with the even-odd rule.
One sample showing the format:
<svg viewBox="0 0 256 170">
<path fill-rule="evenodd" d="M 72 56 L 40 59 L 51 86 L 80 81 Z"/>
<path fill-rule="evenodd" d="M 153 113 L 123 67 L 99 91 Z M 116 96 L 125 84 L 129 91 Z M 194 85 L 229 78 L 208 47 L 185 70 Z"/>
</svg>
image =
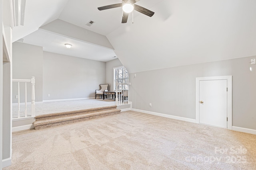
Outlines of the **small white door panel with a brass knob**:
<svg viewBox="0 0 256 170">
<path fill-rule="evenodd" d="M 227 80 L 200 80 L 199 123 L 227 128 Z"/>
</svg>

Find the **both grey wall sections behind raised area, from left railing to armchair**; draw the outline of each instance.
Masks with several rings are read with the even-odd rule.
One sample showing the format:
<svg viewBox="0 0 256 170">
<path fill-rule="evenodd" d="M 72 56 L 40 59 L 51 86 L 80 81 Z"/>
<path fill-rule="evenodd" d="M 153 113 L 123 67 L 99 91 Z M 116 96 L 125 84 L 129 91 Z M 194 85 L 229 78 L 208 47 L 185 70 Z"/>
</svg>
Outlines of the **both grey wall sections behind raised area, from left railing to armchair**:
<svg viewBox="0 0 256 170">
<path fill-rule="evenodd" d="M 36 102 L 74 98 L 92 98 L 99 84 L 106 83 L 105 62 L 43 52 L 42 47 L 13 43 L 13 78 L 36 78 Z M 28 101 L 30 101 L 30 86 Z M 13 103 L 18 100 L 18 84 L 13 83 Z M 24 96 L 24 84 L 20 83 Z M 50 97 L 48 97 L 50 94 Z M 21 102 L 24 99 L 21 98 Z"/>
</svg>

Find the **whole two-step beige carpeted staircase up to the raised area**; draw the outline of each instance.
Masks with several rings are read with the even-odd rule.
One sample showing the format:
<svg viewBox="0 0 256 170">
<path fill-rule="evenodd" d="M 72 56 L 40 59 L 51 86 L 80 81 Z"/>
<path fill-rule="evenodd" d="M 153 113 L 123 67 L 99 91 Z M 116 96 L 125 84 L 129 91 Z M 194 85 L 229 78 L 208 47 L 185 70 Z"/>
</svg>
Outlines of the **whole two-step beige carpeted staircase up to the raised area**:
<svg viewBox="0 0 256 170">
<path fill-rule="evenodd" d="M 67 111 L 62 113 L 52 113 L 46 115 L 36 116 L 34 121 L 34 127 L 36 130 L 44 129 L 48 127 L 54 127 L 58 125 L 64 125 L 68 123 L 74 123 L 78 121 L 85 121 L 89 119 L 95 119 L 98 117 L 104 117 L 108 115 L 115 115 L 121 112 L 120 109 L 116 109 L 116 106 L 98 107 L 92 109 L 84 109 L 78 111 Z"/>
</svg>

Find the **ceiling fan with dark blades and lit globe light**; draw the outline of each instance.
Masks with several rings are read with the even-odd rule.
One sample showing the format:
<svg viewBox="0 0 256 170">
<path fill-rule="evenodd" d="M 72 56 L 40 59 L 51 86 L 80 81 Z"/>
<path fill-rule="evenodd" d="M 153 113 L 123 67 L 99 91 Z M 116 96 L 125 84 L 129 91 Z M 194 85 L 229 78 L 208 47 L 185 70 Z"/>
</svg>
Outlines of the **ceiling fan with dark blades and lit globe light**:
<svg viewBox="0 0 256 170">
<path fill-rule="evenodd" d="M 143 8 L 142 6 L 138 6 L 135 3 L 138 2 L 139 0 L 122 0 L 122 3 L 120 4 L 112 4 L 112 5 L 107 5 L 107 6 L 102 6 L 99 7 L 98 10 L 107 10 L 111 8 L 117 8 L 122 6 L 123 10 L 123 18 L 122 18 L 122 23 L 126 23 L 128 19 L 128 15 L 130 12 L 133 10 L 136 10 L 142 14 L 145 14 L 146 16 L 152 17 L 154 15 L 154 12 Z"/>
</svg>

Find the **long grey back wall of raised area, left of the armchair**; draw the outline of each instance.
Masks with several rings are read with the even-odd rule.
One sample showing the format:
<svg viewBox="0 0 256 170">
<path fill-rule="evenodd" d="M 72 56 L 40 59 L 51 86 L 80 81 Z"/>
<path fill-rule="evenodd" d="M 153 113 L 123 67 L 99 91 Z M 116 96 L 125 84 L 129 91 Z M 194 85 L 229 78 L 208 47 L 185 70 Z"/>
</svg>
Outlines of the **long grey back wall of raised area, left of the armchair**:
<svg viewBox="0 0 256 170">
<path fill-rule="evenodd" d="M 105 62 L 43 54 L 43 100 L 92 98 L 99 84 L 106 83 Z"/>
</svg>

